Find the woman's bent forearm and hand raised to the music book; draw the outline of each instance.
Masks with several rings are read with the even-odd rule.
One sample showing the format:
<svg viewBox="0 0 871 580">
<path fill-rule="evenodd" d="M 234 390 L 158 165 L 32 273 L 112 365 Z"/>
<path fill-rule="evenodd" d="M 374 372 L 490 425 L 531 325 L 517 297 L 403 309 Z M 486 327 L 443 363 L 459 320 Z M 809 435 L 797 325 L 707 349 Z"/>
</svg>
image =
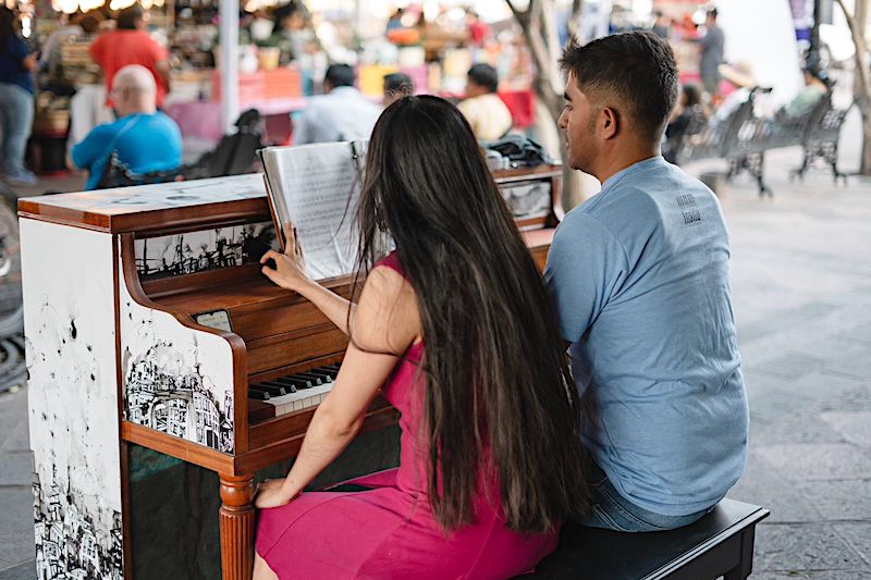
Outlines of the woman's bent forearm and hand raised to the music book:
<svg viewBox="0 0 871 580">
<path fill-rule="evenodd" d="M 260 263 L 262 264 L 269 259 L 275 261 L 275 268 L 263 266 L 263 274 L 282 288 L 294 291 L 303 295 L 311 301 L 318 310 L 323 312 L 327 318 L 330 319 L 330 322 L 347 334 L 348 309 L 351 313 L 354 314 L 354 310 L 356 309 L 355 305 L 334 292 L 324 288 L 305 274 L 303 258 L 299 252 L 296 251 L 296 244 L 294 244 L 292 230 L 293 226 L 290 224 L 285 225 L 284 239 L 287 242 L 284 247 L 284 254 L 269 250 L 260 258 Z"/>
</svg>

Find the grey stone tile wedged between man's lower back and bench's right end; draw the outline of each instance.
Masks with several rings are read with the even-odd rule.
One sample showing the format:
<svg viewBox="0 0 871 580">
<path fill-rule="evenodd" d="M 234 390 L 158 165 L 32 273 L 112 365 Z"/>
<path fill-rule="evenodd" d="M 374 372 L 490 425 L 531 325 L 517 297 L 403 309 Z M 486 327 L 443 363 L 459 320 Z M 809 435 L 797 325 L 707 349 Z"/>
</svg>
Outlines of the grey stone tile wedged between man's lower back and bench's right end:
<svg viewBox="0 0 871 580">
<path fill-rule="evenodd" d="M 771 511 L 769 523 L 818 521 L 820 513 L 806 501 L 795 484 L 775 473 L 771 464 L 751 452 L 747 468 L 728 497 L 756 504 Z"/>
</svg>

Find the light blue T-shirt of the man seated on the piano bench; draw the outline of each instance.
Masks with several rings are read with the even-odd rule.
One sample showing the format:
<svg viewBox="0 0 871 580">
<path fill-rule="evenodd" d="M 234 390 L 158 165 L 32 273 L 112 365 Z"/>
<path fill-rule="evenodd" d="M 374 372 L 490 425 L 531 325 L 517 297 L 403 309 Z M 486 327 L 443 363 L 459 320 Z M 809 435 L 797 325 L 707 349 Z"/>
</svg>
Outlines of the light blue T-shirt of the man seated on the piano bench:
<svg viewBox="0 0 871 580">
<path fill-rule="evenodd" d="M 591 388 L 585 443 L 621 495 L 655 514 L 707 509 L 744 471 L 728 258 L 716 198 L 661 157 L 571 211 L 548 256 L 572 370 Z"/>
</svg>

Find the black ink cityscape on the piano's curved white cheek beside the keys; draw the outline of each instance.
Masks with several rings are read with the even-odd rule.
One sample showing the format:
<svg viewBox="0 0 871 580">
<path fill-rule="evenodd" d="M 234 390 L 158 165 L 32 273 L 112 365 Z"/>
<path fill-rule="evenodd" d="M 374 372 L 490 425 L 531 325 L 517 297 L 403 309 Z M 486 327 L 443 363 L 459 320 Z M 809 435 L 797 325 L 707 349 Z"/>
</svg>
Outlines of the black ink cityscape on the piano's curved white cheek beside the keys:
<svg viewBox="0 0 871 580">
<path fill-rule="evenodd" d="M 130 351 L 124 353 L 128 359 Z M 207 388 L 198 366 L 185 368 L 184 357 L 167 341 L 158 341 L 126 365 L 124 418 L 219 452 L 233 451 L 233 392 L 218 400 Z"/>
</svg>

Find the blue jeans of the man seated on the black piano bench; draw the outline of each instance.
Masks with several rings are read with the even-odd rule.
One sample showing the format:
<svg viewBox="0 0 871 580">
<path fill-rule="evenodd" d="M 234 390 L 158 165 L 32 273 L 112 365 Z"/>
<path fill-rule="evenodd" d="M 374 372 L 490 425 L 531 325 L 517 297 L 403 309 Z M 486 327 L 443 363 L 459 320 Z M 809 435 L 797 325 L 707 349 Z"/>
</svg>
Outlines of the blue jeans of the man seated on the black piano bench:
<svg viewBox="0 0 871 580">
<path fill-rule="evenodd" d="M 587 515 L 576 523 L 618 532 L 659 532 L 689 526 L 711 511 L 704 509 L 689 516 L 662 516 L 648 511 L 624 498 L 598 466 L 591 474 L 592 499 Z"/>
</svg>

